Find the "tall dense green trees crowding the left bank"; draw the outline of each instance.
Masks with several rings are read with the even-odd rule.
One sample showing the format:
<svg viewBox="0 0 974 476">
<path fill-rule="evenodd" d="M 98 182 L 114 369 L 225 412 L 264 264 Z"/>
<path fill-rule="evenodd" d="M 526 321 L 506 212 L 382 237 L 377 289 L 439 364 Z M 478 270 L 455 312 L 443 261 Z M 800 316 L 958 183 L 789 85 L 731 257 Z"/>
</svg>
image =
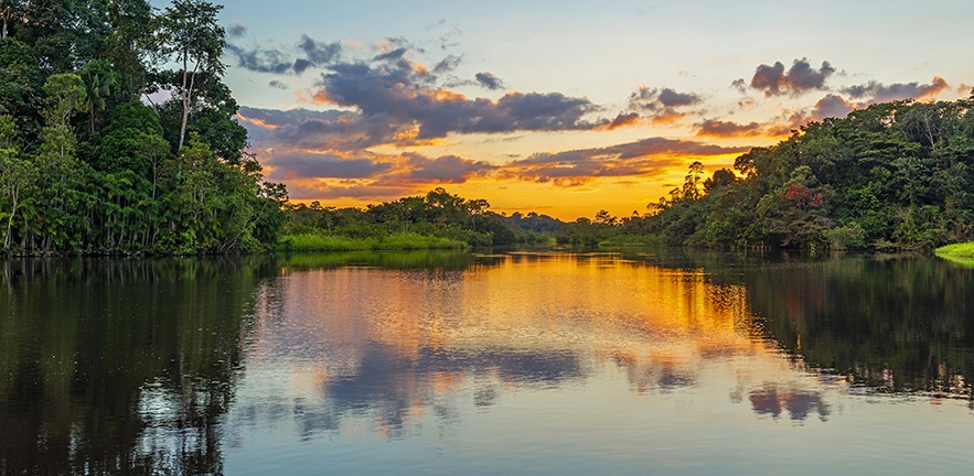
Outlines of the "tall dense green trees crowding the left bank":
<svg viewBox="0 0 974 476">
<path fill-rule="evenodd" d="M 245 152 L 222 82 L 221 8 L 0 3 L 3 252 L 221 253 L 276 242 L 286 191 Z"/>
</svg>

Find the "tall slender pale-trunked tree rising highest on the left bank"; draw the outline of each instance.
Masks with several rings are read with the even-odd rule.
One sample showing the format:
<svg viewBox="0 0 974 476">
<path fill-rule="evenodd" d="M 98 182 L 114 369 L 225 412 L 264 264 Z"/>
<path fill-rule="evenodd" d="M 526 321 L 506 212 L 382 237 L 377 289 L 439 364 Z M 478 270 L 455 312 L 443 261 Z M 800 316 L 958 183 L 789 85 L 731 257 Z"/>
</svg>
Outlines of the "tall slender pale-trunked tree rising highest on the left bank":
<svg viewBox="0 0 974 476">
<path fill-rule="evenodd" d="M 163 56 L 182 65 L 175 93 L 182 102 L 182 122 L 176 149 L 182 149 L 186 122 L 201 76 L 217 80 L 226 69 L 220 61 L 226 47 L 225 31 L 216 15 L 223 7 L 202 0 L 175 0 L 159 18 L 159 47 Z M 192 71 L 190 69 L 192 66 Z"/>
</svg>

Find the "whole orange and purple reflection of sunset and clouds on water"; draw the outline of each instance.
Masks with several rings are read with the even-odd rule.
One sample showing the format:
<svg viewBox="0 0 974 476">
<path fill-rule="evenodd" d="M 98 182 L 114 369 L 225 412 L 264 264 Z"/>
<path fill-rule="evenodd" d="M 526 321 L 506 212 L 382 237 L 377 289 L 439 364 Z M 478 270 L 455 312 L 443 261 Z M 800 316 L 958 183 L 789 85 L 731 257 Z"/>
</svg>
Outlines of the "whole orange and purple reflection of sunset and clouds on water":
<svg viewBox="0 0 974 476">
<path fill-rule="evenodd" d="M 488 409 L 610 368 L 636 396 L 697 389 L 795 421 L 824 419 L 835 388 L 761 337 L 742 285 L 613 253 L 514 253 L 464 270 L 285 268 L 256 309 L 246 367 L 259 378 L 247 382 L 276 398 L 245 413 L 295 415 L 309 434 L 367 414 L 371 431 L 403 435 L 456 400 Z"/>
</svg>

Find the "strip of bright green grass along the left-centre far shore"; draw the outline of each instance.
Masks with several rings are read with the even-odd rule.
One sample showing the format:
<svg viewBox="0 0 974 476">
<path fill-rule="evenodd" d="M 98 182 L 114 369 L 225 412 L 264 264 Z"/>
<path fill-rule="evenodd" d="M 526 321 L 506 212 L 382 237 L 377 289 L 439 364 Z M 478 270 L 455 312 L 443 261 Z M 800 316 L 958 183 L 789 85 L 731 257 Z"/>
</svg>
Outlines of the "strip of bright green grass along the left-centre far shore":
<svg viewBox="0 0 974 476">
<path fill-rule="evenodd" d="M 277 249 L 281 251 L 367 251 L 367 250 L 418 250 L 418 249 L 462 249 L 463 241 L 418 234 L 396 234 L 366 238 L 300 234 L 281 239 Z"/>
</svg>

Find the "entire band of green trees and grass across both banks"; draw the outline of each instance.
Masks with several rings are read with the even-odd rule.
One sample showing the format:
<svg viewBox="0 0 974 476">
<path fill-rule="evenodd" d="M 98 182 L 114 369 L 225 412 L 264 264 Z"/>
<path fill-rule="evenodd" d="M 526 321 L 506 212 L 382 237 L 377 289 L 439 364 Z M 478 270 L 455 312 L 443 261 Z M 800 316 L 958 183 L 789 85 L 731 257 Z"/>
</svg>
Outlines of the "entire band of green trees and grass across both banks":
<svg viewBox="0 0 974 476">
<path fill-rule="evenodd" d="M 925 251 L 974 239 L 974 96 L 812 122 L 706 180 L 694 162 L 642 216 L 503 216 L 442 188 L 288 214 L 285 187 L 264 181 L 234 119 L 220 10 L 203 0 L 158 12 L 146 0 L 2 3 L 0 252 L 552 242 Z"/>
</svg>

